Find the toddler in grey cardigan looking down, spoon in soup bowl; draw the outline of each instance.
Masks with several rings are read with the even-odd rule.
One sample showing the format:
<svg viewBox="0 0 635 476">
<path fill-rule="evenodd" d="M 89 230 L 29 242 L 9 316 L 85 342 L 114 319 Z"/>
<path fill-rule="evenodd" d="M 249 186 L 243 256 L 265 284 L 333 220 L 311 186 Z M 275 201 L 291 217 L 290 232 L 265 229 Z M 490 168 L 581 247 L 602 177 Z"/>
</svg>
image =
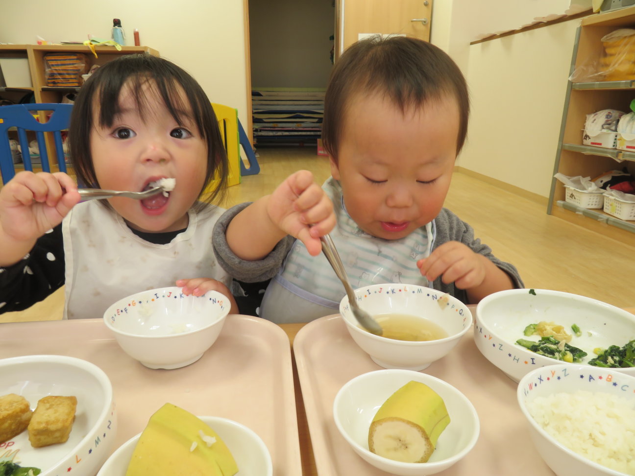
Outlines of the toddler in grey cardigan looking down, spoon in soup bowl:
<svg viewBox="0 0 635 476">
<path fill-rule="evenodd" d="M 354 288 L 417 284 L 465 303 L 522 288 L 516 268 L 443 208 L 468 118 L 465 79 L 436 46 L 409 37 L 353 44 L 324 99 L 331 178 L 320 190 L 300 171 L 274 194 L 225 212 L 214 234 L 219 263 L 241 281 L 273 278 L 260 307 L 265 319 L 334 314 L 344 286 L 319 244 L 332 226 L 332 206 L 331 237 Z M 303 211 L 309 195 L 316 205 Z"/>
</svg>

